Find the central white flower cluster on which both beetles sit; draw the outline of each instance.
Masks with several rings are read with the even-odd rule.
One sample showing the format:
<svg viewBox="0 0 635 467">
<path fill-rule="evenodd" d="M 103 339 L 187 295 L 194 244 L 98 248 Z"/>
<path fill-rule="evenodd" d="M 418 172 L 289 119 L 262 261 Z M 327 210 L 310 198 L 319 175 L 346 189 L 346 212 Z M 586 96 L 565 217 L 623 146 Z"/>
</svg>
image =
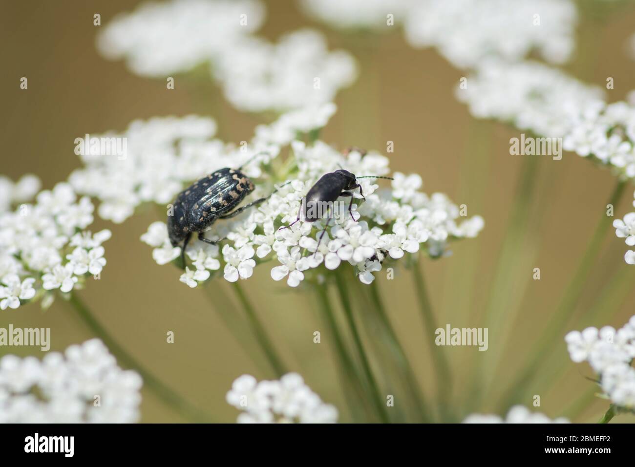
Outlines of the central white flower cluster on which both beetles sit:
<svg viewBox="0 0 635 467">
<path fill-rule="evenodd" d="M 392 189 L 379 189 L 374 178 L 358 179 L 365 200 L 358 190 L 354 191 L 352 218 L 348 210 L 351 198 L 342 198 L 336 205 L 338 211 L 334 210 L 334 219 L 328 222 L 324 218 L 317 222 L 301 219 L 286 228 L 297 219 L 307 191 L 325 173 L 340 167 L 359 177 L 389 173 L 388 159 L 377 153 L 363 156 L 351 151 L 344 156 L 319 140 L 308 144 L 302 140 L 289 142 L 293 133 L 299 133 L 301 138 L 307 132 L 314 134 L 333 110 L 332 104 L 316 109 L 314 118 L 308 116 L 312 111 L 305 115 L 294 112 L 294 118 L 284 115 L 269 127 L 257 128 L 252 144 L 269 146 L 270 156 L 288 152 L 284 162 L 267 157 L 259 167 L 254 162 L 250 165 L 251 172 L 247 171 L 250 177 L 257 179 L 254 180 L 257 189 L 251 197 L 271 196 L 232 220 L 215 222 L 205 236 L 211 240 L 222 239 L 218 245 L 190 241 L 186 255 L 191 263 L 181 276 L 182 282 L 196 287 L 221 267 L 225 280 L 247 279 L 257 262 L 276 257 L 279 266 L 272 268 L 271 276 L 274 280 L 286 278 L 291 287 L 297 287 L 305 274 L 318 278 L 326 272 L 322 266 L 330 270 L 346 263 L 354 267 L 360 281 L 368 284 L 374 280 L 373 272 L 382 269 L 385 259 L 396 260 L 406 252 L 417 253 L 422 244 L 427 254 L 439 257 L 446 252 L 448 241 L 473 238 L 479 233 L 483 228 L 481 217 L 461 218 L 458 206 L 447 196 L 441 193 L 427 196 L 419 191 L 422 180 L 418 175 L 401 173 L 394 174 Z M 277 144 L 288 148 L 283 150 L 283 146 Z M 226 157 L 214 159 L 211 155 L 205 161 L 206 168 L 201 168 L 190 181 L 223 166 L 240 165 L 238 161 L 231 162 Z M 173 166 L 166 166 L 164 170 L 175 172 Z M 152 256 L 158 264 L 167 264 L 180 255 L 180 248 L 170 243 L 164 222 L 152 224 L 142 241 L 154 247 Z"/>
</svg>

